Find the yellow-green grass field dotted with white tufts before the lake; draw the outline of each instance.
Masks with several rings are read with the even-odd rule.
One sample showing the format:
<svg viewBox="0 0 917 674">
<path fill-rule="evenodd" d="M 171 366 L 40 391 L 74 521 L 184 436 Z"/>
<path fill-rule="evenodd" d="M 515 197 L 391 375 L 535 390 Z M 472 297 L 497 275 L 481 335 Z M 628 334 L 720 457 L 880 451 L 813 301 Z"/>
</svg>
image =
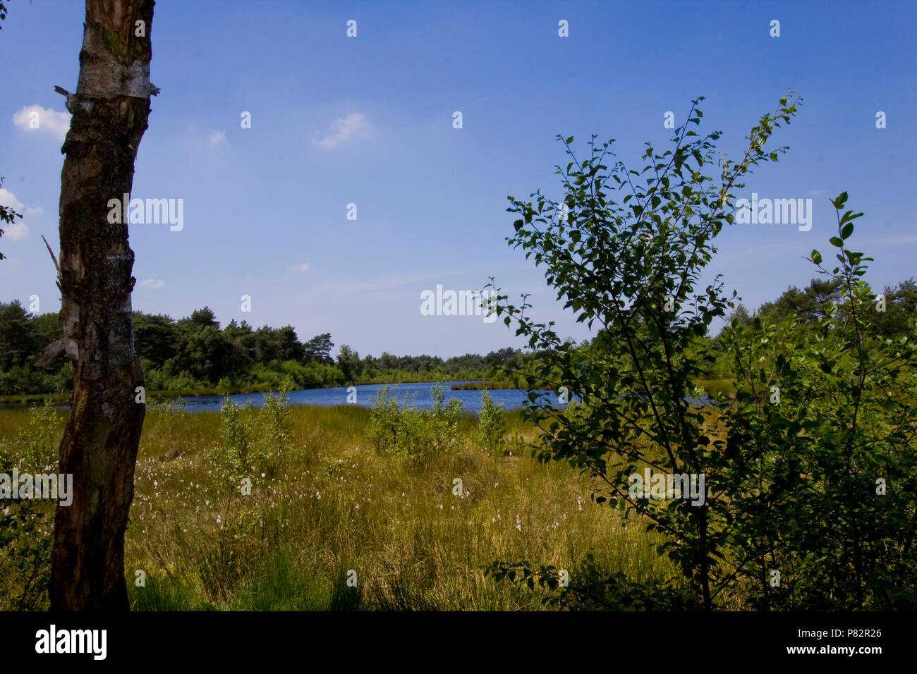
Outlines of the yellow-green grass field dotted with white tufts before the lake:
<svg viewBox="0 0 917 674">
<path fill-rule="evenodd" d="M 8 453 L 26 452 L 29 414 L 0 413 Z M 51 451 L 66 418 L 53 414 Z M 530 458 L 534 430 L 518 413 L 505 413 L 511 455 L 473 447 L 477 421 L 465 415 L 458 453 L 424 465 L 368 446 L 369 409 L 293 407 L 290 417 L 293 450 L 241 495 L 212 465 L 220 414 L 148 408 L 126 542 L 135 609 L 539 609 L 540 591 L 483 569 L 497 559 L 572 569 L 592 553 L 631 580 L 673 573 L 642 527 L 591 503 L 586 477 Z M 10 569 L 0 559 L 7 593 L 21 580 Z"/>
</svg>

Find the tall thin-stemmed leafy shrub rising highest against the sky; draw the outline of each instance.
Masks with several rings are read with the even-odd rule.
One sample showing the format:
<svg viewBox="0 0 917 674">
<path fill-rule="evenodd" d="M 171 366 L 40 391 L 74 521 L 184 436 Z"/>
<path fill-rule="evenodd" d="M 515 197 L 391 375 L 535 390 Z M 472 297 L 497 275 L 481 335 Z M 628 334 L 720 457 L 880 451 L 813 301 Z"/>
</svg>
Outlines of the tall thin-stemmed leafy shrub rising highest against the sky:
<svg viewBox="0 0 917 674">
<path fill-rule="evenodd" d="M 509 197 L 508 210 L 518 215 L 509 245 L 536 261 L 578 322 L 601 326 L 586 359 L 558 336 L 553 322 L 531 320 L 527 295 L 522 304 L 510 304 L 499 288 L 487 287 L 498 293 L 497 315 L 507 326 L 515 321 L 515 334 L 539 355 L 525 376 L 524 408 L 525 418 L 542 430 L 536 458 L 589 473 L 596 502 L 664 534 L 657 552 L 678 566 L 678 587 L 687 587 L 692 602 L 710 610 L 723 602 L 726 586 L 735 588 L 731 574 L 744 563 L 742 555 L 733 564 L 724 558 L 742 543 L 733 528 L 748 518 L 734 506 L 755 486 L 746 478 L 757 464 L 741 456 L 743 443 L 724 447 L 722 428 L 714 428 L 716 408 L 691 403 L 700 381 L 712 379 L 714 357 L 699 339 L 735 308 L 720 277 L 701 285 L 702 270 L 716 252 L 713 239 L 735 223 L 735 189 L 745 186 L 741 181 L 753 168 L 786 151 L 764 148 L 797 108 L 789 95 L 781 98 L 777 110 L 752 128 L 736 161 L 715 152 L 721 132 L 702 136 L 689 130 L 701 124 L 701 100 L 692 102 L 687 121 L 676 129 L 672 149 L 659 152 L 646 143 L 644 171 L 612 161 L 613 141 L 598 143 L 593 136 L 582 159 L 571 149 L 572 137 L 558 137 L 570 155 L 566 169 L 556 171 L 562 202 L 540 190 L 530 201 Z M 713 176 L 704 174 L 708 166 Z M 558 406 L 553 396 L 537 395 L 561 387 L 581 403 Z M 647 465 L 656 469 L 654 478 L 691 476 L 700 493 L 691 500 L 647 496 L 633 488 L 642 482 L 631 480 Z M 754 538 L 746 532 L 747 540 Z M 760 569 L 748 573 L 764 580 Z M 677 589 L 676 579 L 671 583 L 667 592 Z"/>
</svg>

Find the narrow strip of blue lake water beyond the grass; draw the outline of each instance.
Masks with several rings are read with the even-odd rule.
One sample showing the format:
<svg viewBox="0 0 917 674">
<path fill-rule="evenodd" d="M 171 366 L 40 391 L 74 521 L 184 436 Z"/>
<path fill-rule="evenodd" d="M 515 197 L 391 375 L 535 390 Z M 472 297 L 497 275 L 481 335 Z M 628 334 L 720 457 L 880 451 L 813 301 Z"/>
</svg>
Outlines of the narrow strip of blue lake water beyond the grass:
<svg viewBox="0 0 917 674">
<path fill-rule="evenodd" d="M 446 381 L 446 401 L 455 398 L 461 401 L 463 412 L 479 412 L 481 410 L 481 391 L 450 391 L 452 384 L 469 383 L 468 381 Z M 422 383 L 390 384 L 392 396 L 402 403 L 404 396 L 412 407 L 430 408 L 433 399 L 430 397 L 432 381 Z M 385 388 L 385 384 L 361 384 L 357 387 L 357 401 L 363 407 L 371 407 L 376 396 Z M 491 398 L 496 404 L 503 403 L 503 409 L 517 409 L 523 406 L 526 394 L 519 389 L 497 389 L 490 391 Z M 251 401 L 253 407 L 264 404 L 264 393 L 238 393 L 229 396 L 234 403 L 243 404 Z M 330 389 L 305 389 L 304 391 L 290 392 L 291 405 L 343 405 L 348 404 L 348 387 L 337 386 Z M 186 403 L 186 412 L 218 412 L 223 403 L 222 395 L 193 395 L 183 398 Z"/>
</svg>

